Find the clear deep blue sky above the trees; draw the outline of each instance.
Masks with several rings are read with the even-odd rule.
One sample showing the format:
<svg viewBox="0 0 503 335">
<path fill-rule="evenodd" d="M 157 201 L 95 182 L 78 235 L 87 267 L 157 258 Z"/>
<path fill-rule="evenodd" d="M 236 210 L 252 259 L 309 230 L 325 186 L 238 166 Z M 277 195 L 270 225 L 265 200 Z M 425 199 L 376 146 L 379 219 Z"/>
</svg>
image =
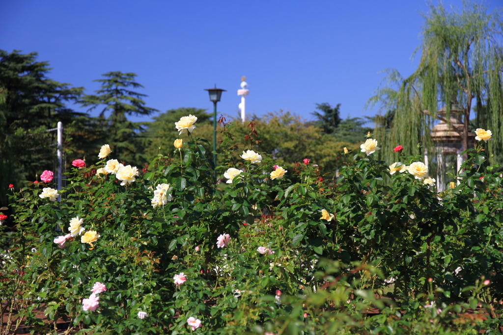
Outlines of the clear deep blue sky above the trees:
<svg viewBox="0 0 503 335">
<path fill-rule="evenodd" d="M 245 75 L 247 114 L 284 109 L 310 120 L 315 103 L 328 102 L 341 103 L 344 118 L 362 117 L 377 113 L 364 105 L 379 71 L 407 76 L 417 66 L 411 55 L 428 10 L 424 0 L 10 1 L 0 11 L 0 48 L 37 51 L 50 78 L 87 93 L 105 72 L 134 72 L 147 106 L 160 111 L 212 109 L 203 89 L 216 84 L 227 90 L 219 113 L 237 116 Z"/>
</svg>

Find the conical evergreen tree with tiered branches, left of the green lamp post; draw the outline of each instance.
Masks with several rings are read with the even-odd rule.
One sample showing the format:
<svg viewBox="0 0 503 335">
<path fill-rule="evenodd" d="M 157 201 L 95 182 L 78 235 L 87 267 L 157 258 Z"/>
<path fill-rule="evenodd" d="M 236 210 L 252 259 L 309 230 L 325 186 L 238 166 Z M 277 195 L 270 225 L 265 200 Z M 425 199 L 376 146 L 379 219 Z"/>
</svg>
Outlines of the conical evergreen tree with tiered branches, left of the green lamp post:
<svg viewBox="0 0 503 335">
<path fill-rule="evenodd" d="M 146 162 L 144 148 L 148 140 L 143 136 L 147 123 L 134 123 L 127 120 L 127 116 L 149 116 L 157 109 L 146 107 L 142 97 L 147 95 L 130 90 L 129 88 L 143 87 L 134 81 L 135 73 L 120 71 L 107 72 L 104 79 L 94 81 L 101 83 L 96 95 L 84 95 L 79 100 L 88 111 L 102 106 L 101 122 L 106 122 L 108 136 L 103 144 L 110 145 L 114 157 L 127 164 L 141 166 Z M 105 119 L 105 115 L 110 113 Z"/>
</svg>

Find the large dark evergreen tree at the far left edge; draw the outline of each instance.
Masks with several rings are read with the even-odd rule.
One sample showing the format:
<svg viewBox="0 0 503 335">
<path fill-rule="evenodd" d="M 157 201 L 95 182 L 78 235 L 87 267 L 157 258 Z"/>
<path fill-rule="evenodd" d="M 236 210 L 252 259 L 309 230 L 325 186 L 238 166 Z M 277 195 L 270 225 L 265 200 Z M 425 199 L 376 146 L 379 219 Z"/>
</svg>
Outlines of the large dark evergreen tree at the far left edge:
<svg viewBox="0 0 503 335">
<path fill-rule="evenodd" d="M 23 186 L 44 169 L 54 170 L 57 122 L 70 124 L 83 114 L 67 108 L 82 87 L 70 87 L 46 77 L 48 62 L 37 53 L 0 50 L 0 201 L 7 202 L 9 184 Z"/>
</svg>

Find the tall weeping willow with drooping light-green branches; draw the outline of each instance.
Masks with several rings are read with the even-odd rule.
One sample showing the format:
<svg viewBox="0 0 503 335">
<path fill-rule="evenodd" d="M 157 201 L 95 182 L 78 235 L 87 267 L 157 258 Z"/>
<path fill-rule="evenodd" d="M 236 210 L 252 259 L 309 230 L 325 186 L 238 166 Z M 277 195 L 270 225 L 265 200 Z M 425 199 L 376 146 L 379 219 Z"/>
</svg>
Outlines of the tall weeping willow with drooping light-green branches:
<svg viewBox="0 0 503 335">
<path fill-rule="evenodd" d="M 431 5 L 424 15 L 418 68 L 408 78 L 386 70 L 384 85 L 367 105 L 380 104 L 394 114 L 386 129 L 376 118 L 376 138 L 382 141 L 380 158 L 393 161 L 393 146 L 416 154 L 417 145 L 434 154 L 430 132 L 437 120 L 449 123 L 451 104 L 463 109 L 463 126 L 455 129 L 463 150 L 469 147 L 470 119 L 477 128 L 490 129 L 491 163 L 503 161 L 503 23 L 497 12 L 487 14 L 478 4 L 464 3 L 462 11 L 448 12 L 442 4 Z M 447 116 L 437 111 L 445 107 Z M 385 120 L 386 118 L 381 118 Z M 420 154 L 423 154 L 420 151 Z"/>
</svg>

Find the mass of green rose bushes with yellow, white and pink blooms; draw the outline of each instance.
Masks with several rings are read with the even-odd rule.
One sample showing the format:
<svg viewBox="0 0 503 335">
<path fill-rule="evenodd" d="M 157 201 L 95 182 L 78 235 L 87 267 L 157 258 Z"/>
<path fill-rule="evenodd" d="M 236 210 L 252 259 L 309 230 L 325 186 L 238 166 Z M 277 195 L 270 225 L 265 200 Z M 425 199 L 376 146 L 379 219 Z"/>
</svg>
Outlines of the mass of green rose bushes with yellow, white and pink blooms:
<svg viewBox="0 0 503 335">
<path fill-rule="evenodd" d="M 11 191 L 2 333 L 59 318 L 86 334 L 500 333 L 501 178 L 483 144 L 439 194 L 422 157 L 398 151 L 390 167 L 371 139 L 334 181 L 249 151 L 220 162 L 219 183 L 190 125 L 143 173 L 104 148 L 59 202 L 45 183 Z M 220 157 L 232 150 L 224 140 Z"/>
</svg>

